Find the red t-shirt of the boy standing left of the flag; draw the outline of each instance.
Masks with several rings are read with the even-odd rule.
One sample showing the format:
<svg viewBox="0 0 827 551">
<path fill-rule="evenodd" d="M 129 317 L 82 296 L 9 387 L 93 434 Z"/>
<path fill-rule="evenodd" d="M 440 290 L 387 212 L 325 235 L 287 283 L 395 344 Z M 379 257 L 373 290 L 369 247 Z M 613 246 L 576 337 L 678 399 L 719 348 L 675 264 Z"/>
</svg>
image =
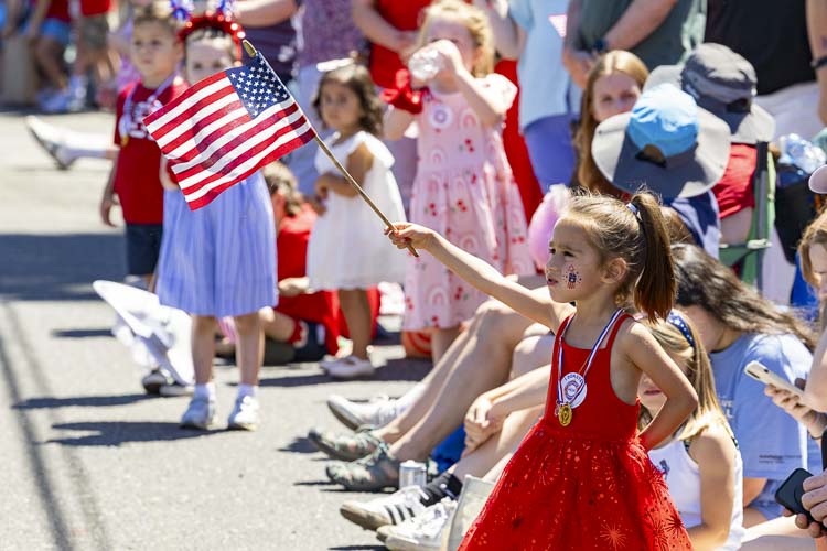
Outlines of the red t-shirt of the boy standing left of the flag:
<svg viewBox="0 0 827 551">
<path fill-rule="evenodd" d="M 115 144 L 120 147 L 118 162 L 115 165 L 115 193 L 118 194 L 123 220 L 127 224 L 163 223 L 163 187 L 159 170 L 161 150 L 147 132 L 143 117 L 168 104 L 186 89 L 182 78 L 162 90 L 153 105 L 149 104 L 154 89 L 146 88 L 140 83 L 132 83 L 118 95 L 117 118 L 115 123 Z M 123 119 L 127 133 L 126 143 L 121 140 L 121 119 L 129 95 L 131 98 L 131 117 Z"/>
</svg>

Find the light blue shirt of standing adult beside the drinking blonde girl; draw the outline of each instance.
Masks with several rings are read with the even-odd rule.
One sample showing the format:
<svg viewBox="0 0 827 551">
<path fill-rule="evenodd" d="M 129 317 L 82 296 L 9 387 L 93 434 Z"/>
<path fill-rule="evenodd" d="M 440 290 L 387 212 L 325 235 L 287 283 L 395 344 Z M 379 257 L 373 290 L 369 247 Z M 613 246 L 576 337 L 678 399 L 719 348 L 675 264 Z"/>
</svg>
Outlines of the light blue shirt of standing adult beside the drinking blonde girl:
<svg viewBox="0 0 827 551">
<path fill-rule="evenodd" d="M 508 4 L 508 15 L 526 32 L 517 62 L 520 129 L 545 117 L 580 111 L 580 88 L 562 66 L 568 7 L 568 0 L 512 0 Z"/>
</svg>

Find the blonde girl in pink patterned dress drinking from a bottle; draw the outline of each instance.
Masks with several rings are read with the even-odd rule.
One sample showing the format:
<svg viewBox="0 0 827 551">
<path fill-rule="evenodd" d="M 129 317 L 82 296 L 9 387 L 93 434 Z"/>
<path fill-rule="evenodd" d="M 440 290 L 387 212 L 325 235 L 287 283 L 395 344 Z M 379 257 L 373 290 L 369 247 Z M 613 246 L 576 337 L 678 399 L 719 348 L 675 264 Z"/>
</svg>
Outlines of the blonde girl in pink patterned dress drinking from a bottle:
<svg viewBox="0 0 827 551">
<path fill-rule="evenodd" d="M 519 191 L 501 136 L 515 86 L 493 74 L 492 33 L 486 15 L 460 0 L 433 2 L 426 11 L 420 52 L 439 67 L 414 82 L 397 75 L 385 134 L 398 139 L 416 122 L 417 176 L 410 220 L 432 228 L 503 273 L 534 273 Z M 416 58 L 415 54 L 411 58 Z M 462 321 L 486 296 L 463 283 L 430 255 L 409 259 L 405 279 L 405 328 L 432 331 L 437 361 Z"/>
</svg>

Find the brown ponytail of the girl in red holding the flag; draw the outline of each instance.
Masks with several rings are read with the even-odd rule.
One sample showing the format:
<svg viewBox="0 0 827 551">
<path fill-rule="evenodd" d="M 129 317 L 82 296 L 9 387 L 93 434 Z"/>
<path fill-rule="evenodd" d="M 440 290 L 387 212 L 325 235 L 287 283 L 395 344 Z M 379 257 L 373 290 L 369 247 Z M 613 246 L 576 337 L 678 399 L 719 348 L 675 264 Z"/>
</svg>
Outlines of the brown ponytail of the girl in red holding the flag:
<svg viewBox="0 0 827 551">
<path fill-rule="evenodd" d="M 634 304 L 651 321 L 666 318 L 677 289 L 666 222 L 657 199 L 648 193 L 636 193 L 629 204 L 641 224 L 638 242 L 644 247 L 641 276 L 634 285 Z"/>
</svg>

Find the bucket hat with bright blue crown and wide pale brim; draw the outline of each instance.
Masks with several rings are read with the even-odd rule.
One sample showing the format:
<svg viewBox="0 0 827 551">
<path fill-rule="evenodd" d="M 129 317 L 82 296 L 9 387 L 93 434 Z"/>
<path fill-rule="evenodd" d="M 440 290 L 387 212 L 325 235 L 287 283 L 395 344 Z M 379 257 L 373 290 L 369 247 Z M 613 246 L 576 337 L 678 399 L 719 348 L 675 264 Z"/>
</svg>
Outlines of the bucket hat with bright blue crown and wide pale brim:
<svg viewBox="0 0 827 551">
<path fill-rule="evenodd" d="M 645 186 L 664 199 L 695 197 L 721 179 L 729 161 L 729 127 L 670 84 L 645 90 L 631 112 L 598 126 L 591 152 L 612 185 Z"/>
</svg>

